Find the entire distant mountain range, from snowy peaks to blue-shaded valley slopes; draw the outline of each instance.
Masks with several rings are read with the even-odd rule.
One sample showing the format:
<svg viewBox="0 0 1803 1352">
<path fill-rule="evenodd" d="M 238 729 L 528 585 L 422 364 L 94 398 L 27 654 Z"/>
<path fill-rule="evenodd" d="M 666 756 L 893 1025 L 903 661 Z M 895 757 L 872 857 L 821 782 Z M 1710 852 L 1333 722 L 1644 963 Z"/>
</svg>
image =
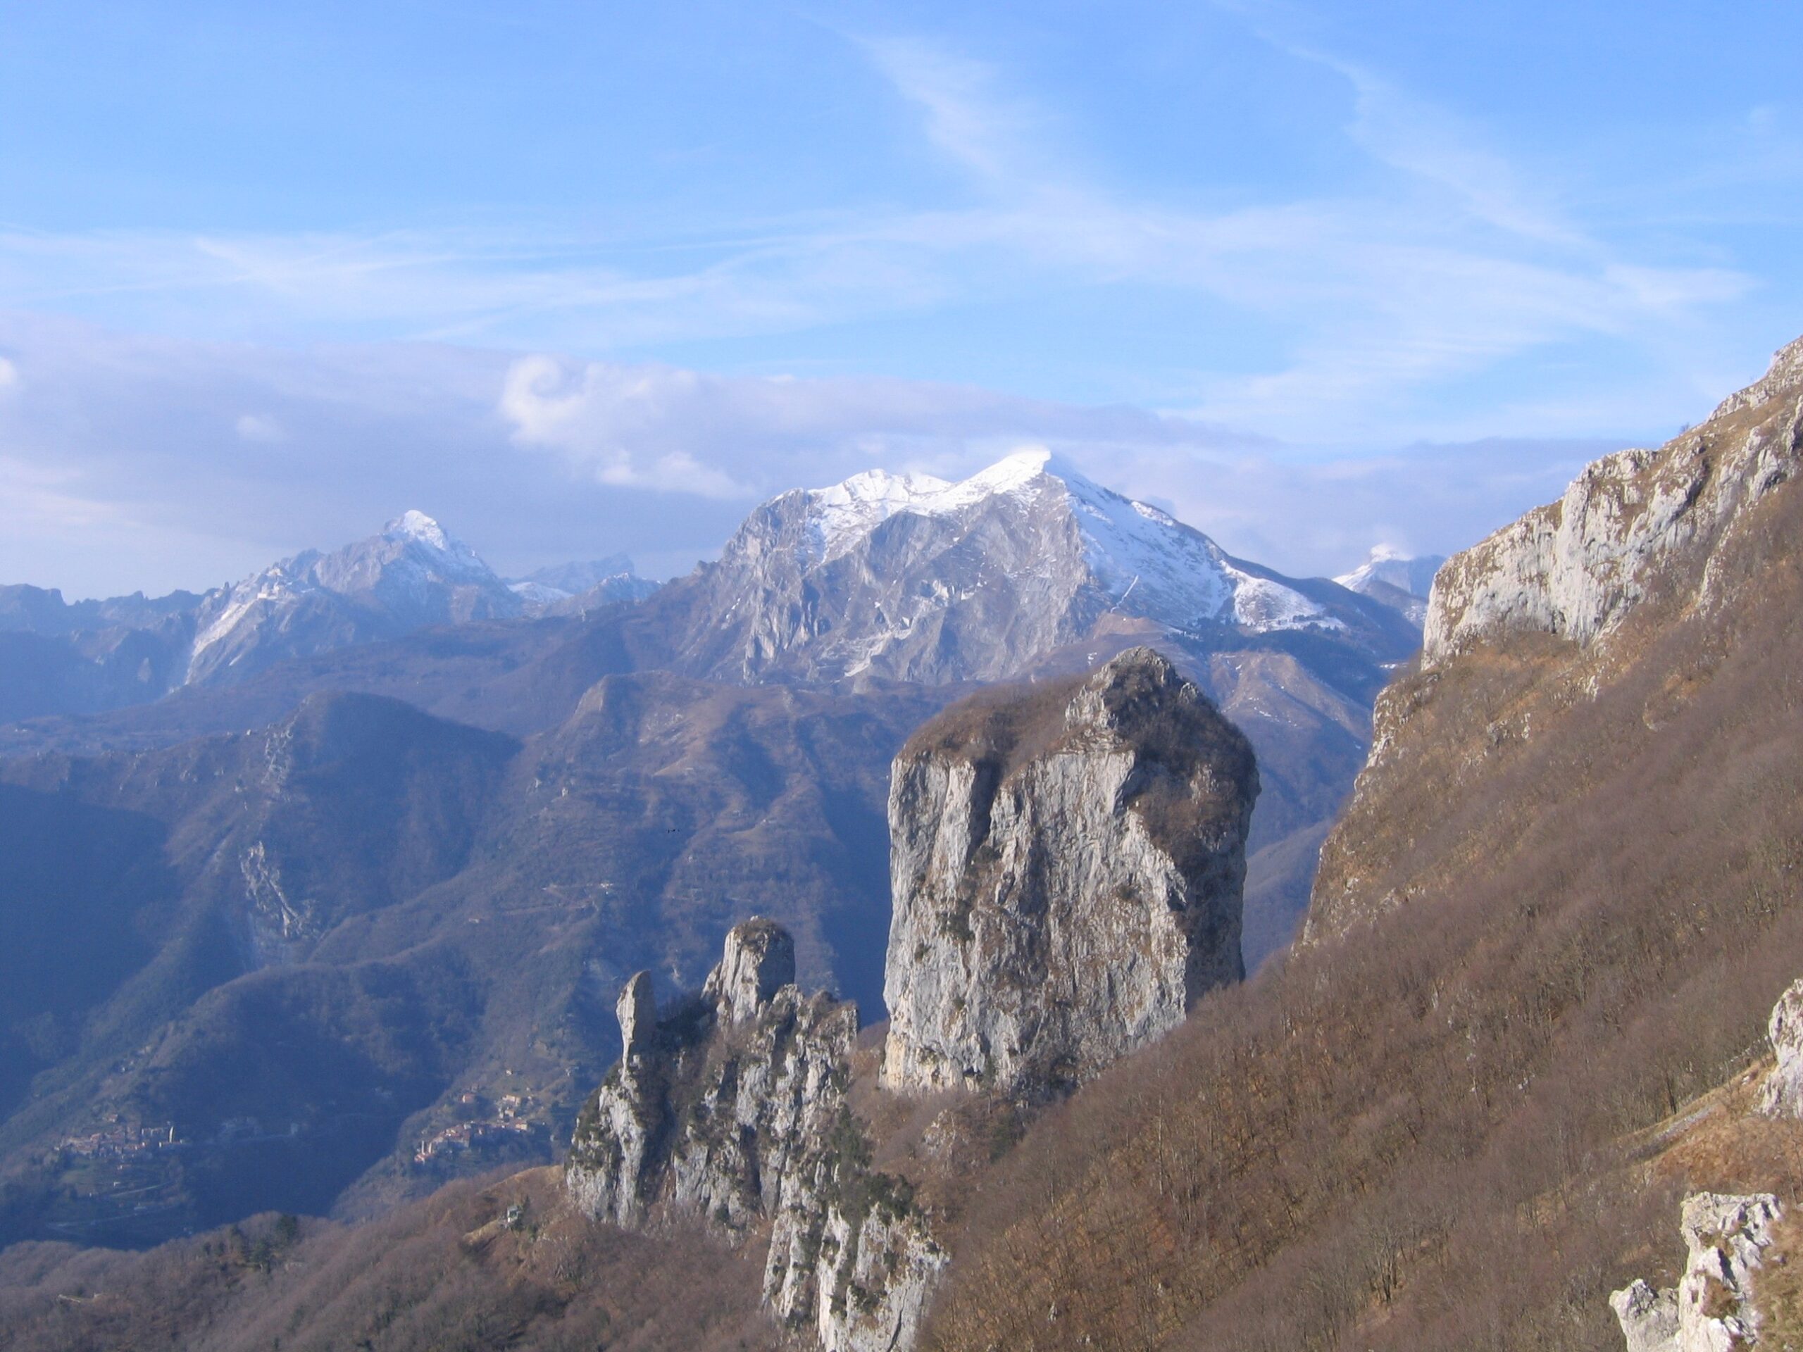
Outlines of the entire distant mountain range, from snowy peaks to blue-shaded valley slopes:
<svg viewBox="0 0 1803 1352">
<path fill-rule="evenodd" d="M 362 1215 L 546 1161 L 617 982 L 694 984 L 750 914 L 878 1017 L 907 734 L 1138 642 L 1257 746 L 1246 952 L 1282 945 L 1415 631 L 1042 461 L 786 494 L 627 600 L 545 600 L 604 566 L 508 588 L 418 514 L 198 598 L 9 589 L 20 644 L 162 635 L 178 689 L 0 726 L 0 1237 Z"/>
</svg>

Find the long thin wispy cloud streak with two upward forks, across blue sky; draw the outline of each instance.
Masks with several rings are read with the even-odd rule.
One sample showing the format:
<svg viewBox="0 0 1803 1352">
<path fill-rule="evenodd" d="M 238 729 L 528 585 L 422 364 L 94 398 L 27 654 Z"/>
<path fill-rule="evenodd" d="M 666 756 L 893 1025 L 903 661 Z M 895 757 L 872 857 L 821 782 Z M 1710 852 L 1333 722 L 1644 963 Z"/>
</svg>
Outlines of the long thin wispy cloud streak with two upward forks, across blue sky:
<svg viewBox="0 0 1803 1352">
<path fill-rule="evenodd" d="M 1612 247 L 1543 173 L 1453 110 L 1318 47 L 1273 43 L 1343 83 L 1345 142 L 1381 169 L 1368 184 L 1224 211 L 1145 198 L 1073 162 L 1060 114 L 1011 72 L 921 36 L 858 36 L 849 49 L 963 175 L 965 200 L 640 238 L 543 220 L 296 236 L 13 231 L 0 233 L 0 306 L 193 337 L 595 355 L 793 335 L 786 350 L 806 352 L 835 326 L 948 303 L 1150 287 L 1192 296 L 1199 326 L 1255 321 L 1287 335 L 1264 370 L 1176 373 L 1174 406 L 1367 445 L 1460 431 L 1442 391 L 1558 344 L 1641 353 L 1655 386 L 1695 379 L 1697 335 L 1749 292 L 1747 274 Z"/>
</svg>

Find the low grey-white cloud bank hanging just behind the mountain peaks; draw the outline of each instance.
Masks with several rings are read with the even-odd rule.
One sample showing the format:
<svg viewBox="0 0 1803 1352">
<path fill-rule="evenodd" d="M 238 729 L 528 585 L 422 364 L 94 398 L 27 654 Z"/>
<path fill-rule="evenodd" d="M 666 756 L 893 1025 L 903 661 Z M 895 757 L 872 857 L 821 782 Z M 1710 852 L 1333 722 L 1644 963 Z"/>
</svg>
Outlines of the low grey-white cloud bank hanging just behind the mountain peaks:
<svg viewBox="0 0 1803 1352">
<path fill-rule="evenodd" d="M 1334 573 L 1381 541 L 1464 546 L 1615 445 L 1345 458 L 1143 409 L 909 380 L 427 344 L 297 353 L 4 315 L 0 344 L 32 371 L 0 400 L 0 582 L 70 595 L 211 586 L 409 507 L 503 570 L 624 550 L 647 571 L 685 571 L 775 492 L 873 465 L 961 476 L 1022 443 L 1228 550 Z"/>
</svg>

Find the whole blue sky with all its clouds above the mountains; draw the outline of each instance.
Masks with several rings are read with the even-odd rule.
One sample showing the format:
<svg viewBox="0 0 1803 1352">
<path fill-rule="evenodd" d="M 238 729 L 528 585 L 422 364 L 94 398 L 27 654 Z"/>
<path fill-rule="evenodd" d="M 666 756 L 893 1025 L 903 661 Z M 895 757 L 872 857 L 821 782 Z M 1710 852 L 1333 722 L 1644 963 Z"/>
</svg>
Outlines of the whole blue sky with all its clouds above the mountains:
<svg viewBox="0 0 1803 1352">
<path fill-rule="evenodd" d="M 0 580 L 1037 442 L 1331 571 L 1803 332 L 1794 4 L 247 9 L 0 0 Z"/>
</svg>

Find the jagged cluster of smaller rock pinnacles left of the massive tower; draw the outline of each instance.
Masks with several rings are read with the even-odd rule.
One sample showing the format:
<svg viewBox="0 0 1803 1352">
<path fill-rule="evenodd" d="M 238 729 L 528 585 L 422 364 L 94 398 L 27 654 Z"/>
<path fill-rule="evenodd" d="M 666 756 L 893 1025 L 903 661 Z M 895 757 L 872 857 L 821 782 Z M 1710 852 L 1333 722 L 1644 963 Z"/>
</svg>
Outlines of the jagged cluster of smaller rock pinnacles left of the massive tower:
<svg viewBox="0 0 1803 1352">
<path fill-rule="evenodd" d="M 824 1352 L 907 1348 L 947 1255 L 851 1114 L 856 1006 L 793 977 L 795 945 L 768 919 L 734 928 L 701 995 L 662 1017 L 651 973 L 633 977 L 566 1186 L 620 1226 L 687 1213 L 748 1238 L 768 1222 L 764 1302 L 786 1329 Z"/>
</svg>

